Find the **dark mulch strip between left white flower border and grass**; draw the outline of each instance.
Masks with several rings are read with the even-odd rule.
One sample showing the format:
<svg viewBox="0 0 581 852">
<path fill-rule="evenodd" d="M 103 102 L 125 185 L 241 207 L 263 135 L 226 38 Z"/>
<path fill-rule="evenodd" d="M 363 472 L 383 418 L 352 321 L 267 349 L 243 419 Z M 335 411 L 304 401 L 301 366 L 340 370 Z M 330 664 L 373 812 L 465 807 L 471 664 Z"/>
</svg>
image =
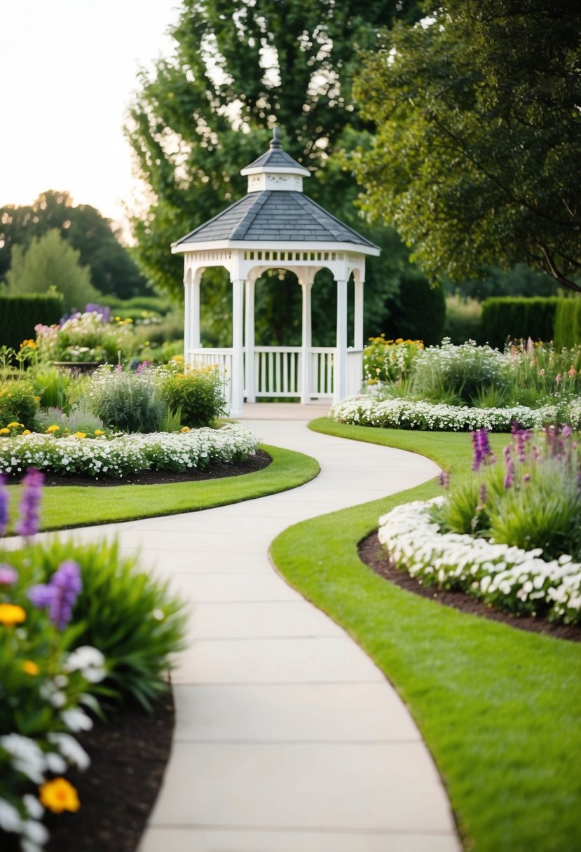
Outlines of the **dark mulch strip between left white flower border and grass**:
<svg viewBox="0 0 581 852">
<path fill-rule="evenodd" d="M 204 470 L 188 470 L 186 473 L 175 473 L 172 470 L 142 470 L 141 473 L 125 476 L 123 479 L 95 480 L 93 476 L 61 476 L 45 473 L 45 486 L 78 485 L 78 486 L 116 486 L 116 485 L 169 485 L 174 482 L 199 482 L 206 479 L 222 479 L 225 476 L 240 476 L 262 470 L 272 462 L 272 458 L 262 450 L 256 450 L 254 456 L 245 462 L 212 464 Z M 18 482 L 22 477 L 11 477 L 10 482 Z"/>
</svg>

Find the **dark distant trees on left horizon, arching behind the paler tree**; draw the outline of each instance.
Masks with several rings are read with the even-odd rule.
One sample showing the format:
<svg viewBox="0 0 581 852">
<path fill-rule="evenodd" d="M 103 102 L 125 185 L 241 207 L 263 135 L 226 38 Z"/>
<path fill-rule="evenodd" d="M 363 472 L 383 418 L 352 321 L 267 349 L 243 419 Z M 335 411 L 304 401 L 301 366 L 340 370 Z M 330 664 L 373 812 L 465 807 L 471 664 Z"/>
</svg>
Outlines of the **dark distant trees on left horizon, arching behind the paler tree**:
<svg viewBox="0 0 581 852">
<path fill-rule="evenodd" d="M 26 249 L 32 239 L 53 228 L 79 252 L 98 291 L 119 298 L 147 292 L 147 280 L 119 242 L 110 220 L 90 204 L 73 204 L 69 193 L 55 190 L 41 193 L 32 204 L 0 208 L 0 280 L 9 271 L 14 246 Z"/>
</svg>

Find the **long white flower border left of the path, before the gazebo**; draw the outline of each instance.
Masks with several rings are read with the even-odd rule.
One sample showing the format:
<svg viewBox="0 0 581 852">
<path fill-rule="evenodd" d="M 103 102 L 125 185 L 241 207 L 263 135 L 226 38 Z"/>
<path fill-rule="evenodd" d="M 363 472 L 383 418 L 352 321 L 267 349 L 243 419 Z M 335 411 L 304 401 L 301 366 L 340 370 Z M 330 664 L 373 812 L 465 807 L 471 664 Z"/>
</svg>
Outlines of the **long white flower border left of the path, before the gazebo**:
<svg viewBox="0 0 581 852">
<path fill-rule="evenodd" d="M 227 423 L 221 429 L 152 432 L 107 439 L 68 435 L 14 435 L 0 440 L 0 472 L 16 474 L 29 467 L 59 474 L 118 479 L 141 470 L 185 471 L 211 463 L 238 462 L 254 455 L 259 444 L 250 429 Z"/>
</svg>

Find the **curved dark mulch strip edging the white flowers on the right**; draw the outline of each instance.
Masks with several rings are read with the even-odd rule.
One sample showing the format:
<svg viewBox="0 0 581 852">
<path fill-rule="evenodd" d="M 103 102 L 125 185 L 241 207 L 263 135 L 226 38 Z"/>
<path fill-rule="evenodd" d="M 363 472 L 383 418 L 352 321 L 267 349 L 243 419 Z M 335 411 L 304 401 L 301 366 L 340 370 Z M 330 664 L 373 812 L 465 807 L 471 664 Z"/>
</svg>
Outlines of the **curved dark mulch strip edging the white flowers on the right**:
<svg viewBox="0 0 581 852">
<path fill-rule="evenodd" d="M 492 619 L 492 621 L 502 621 L 503 624 L 517 627 L 519 630 L 529 630 L 532 633 L 543 633 L 544 636 L 554 636 L 556 639 L 581 642 L 581 627 L 578 625 L 558 625 L 543 619 L 533 619 L 530 616 L 503 613 L 502 610 L 493 609 L 486 603 L 476 601 L 475 598 L 466 595 L 463 591 L 439 590 L 434 586 L 420 584 L 417 579 L 410 577 L 406 571 L 400 571 L 394 566 L 388 552 L 380 544 L 377 533 L 371 533 L 363 541 L 360 541 L 359 554 L 361 561 L 365 562 L 365 565 L 368 565 L 380 577 L 399 585 L 402 589 L 413 592 L 415 595 L 429 597 L 431 601 L 445 604 L 446 607 L 460 609 L 463 613 L 480 615 L 486 619 Z"/>
</svg>

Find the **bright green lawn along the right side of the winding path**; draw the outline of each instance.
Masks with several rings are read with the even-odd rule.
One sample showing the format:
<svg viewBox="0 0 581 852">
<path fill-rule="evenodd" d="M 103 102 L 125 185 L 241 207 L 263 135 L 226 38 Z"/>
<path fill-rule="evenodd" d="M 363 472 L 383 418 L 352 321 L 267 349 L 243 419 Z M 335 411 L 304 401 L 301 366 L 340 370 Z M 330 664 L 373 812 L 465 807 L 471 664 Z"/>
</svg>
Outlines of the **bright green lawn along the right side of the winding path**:
<svg viewBox="0 0 581 852">
<path fill-rule="evenodd" d="M 321 419 L 331 435 L 399 446 L 468 475 L 469 435 Z M 501 452 L 507 435 L 492 435 Z M 303 521 L 275 539 L 289 583 L 354 636 L 410 706 L 466 849 L 571 852 L 581 836 L 581 646 L 441 607 L 378 577 L 357 543 L 435 481 Z"/>
</svg>

